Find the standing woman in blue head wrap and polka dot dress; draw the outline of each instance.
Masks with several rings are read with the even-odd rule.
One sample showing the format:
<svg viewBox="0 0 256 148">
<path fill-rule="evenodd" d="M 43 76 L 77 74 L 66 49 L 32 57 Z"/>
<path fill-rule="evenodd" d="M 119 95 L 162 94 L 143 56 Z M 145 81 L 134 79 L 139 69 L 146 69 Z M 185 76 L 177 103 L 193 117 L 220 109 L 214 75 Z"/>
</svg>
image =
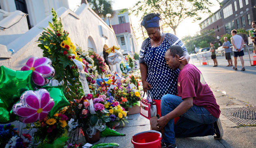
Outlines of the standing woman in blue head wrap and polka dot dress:
<svg viewBox="0 0 256 148">
<path fill-rule="evenodd" d="M 179 69 L 172 70 L 166 65 L 164 54 L 172 45 L 182 47 L 184 55 L 180 58 L 183 65 L 187 64 L 190 56 L 183 43 L 171 33 L 160 32 L 160 14 L 150 13 L 143 17 L 141 26 L 149 36 L 144 40 L 140 49 L 140 73 L 143 90 L 150 90 L 156 102 L 157 114 L 161 116 L 161 97 L 166 94 L 177 95 L 177 80 Z"/>
</svg>

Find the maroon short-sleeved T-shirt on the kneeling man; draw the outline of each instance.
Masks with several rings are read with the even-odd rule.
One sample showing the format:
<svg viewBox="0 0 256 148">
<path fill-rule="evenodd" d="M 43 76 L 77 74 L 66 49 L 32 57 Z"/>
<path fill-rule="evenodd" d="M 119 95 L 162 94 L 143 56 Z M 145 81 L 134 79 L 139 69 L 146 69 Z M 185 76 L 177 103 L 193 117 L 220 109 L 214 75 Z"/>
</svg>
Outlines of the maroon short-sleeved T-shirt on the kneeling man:
<svg viewBox="0 0 256 148">
<path fill-rule="evenodd" d="M 192 64 L 185 65 L 180 71 L 178 76 L 178 95 L 182 99 L 193 97 L 194 105 L 204 106 L 215 118 L 220 117 L 220 106 L 218 106 L 213 92 L 204 81 L 199 69 Z"/>
</svg>

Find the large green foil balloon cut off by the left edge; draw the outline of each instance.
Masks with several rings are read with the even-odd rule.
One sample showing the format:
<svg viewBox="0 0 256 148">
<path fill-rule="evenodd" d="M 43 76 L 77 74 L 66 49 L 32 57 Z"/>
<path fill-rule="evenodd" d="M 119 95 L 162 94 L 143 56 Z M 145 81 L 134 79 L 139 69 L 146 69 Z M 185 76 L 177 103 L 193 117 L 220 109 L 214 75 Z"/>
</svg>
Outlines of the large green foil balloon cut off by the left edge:
<svg viewBox="0 0 256 148">
<path fill-rule="evenodd" d="M 16 120 L 12 106 L 26 90 L 33 90 L 32 70 L 16 71 L 0 67 L 0 123 Z"/>
</svg>

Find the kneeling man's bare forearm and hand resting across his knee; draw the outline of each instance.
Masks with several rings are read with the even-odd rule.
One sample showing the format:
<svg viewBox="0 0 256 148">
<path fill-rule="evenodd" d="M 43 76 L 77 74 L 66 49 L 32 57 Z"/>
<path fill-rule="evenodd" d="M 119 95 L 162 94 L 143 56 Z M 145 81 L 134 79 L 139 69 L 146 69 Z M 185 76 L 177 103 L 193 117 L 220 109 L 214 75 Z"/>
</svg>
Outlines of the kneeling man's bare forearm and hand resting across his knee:
<svg viewBox="0 0 256 148">
<path fill-rule="evenodd" d="M 180 103 L 173 111 L 162 116 L 157 120 L 156 126 L 159 126 L 159 129 L 162 130 L 169 120 L 183 115 L 187 110 L 189 110 L 193 106 L 193 97 L 188 97 L 183 99 L 183 102 Z"/>
</svg>

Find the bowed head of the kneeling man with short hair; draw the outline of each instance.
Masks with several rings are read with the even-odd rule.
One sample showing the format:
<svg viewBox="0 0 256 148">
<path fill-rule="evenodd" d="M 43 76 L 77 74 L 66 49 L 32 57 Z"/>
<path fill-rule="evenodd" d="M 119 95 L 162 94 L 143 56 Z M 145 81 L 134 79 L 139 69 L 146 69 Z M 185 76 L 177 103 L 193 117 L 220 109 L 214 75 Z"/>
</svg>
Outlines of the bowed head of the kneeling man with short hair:
<svg viewBox="0 0 256 148">
<path fill-rule="evenodd" d="M 183 56 L 183 49 L 181 46 L 173 45 L 166 50 L 164 58 L 166 60 L 166 64 L 173 70 L 179 68 L 181 62 L 179 62 L 179 58 Z"/>
</svg>

